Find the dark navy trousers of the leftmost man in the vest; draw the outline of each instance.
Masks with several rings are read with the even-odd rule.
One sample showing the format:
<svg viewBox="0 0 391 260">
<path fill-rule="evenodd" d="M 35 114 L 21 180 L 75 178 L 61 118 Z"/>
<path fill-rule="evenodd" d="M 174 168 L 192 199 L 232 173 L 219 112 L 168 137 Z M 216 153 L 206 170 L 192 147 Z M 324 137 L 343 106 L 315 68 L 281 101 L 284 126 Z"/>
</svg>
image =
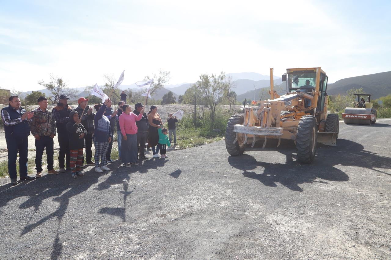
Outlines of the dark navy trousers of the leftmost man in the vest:
<svg viewBox="0 0 391 260">
<path fill-rule="evenodd" d="M 8 173 L 9 178 L 16 179 L 16 156 L 19 151 L 19 176 L 27 176 L 27 153 L 28 153 L 28 139 L 25 138 L 14 138 L 6 137 L 8 149 Z"/>
</svg>

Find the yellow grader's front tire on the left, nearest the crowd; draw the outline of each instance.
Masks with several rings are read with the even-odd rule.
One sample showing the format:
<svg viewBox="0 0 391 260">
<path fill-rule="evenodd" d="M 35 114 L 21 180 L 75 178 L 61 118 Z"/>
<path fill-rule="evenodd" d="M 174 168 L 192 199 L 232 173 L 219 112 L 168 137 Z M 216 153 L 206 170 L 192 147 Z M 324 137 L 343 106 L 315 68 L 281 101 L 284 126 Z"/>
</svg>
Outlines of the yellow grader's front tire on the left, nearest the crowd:
<svg viewBox="0 0 391 260">
<path fill-rule="evenodd" d="M 233 126 L 236 124 L 243 125 L 244 115 L 234 115 L 228 120 L 227 128 L 225 132 L 225 146 L 230 155 L 237 156 L 242 155 L 246 150 L 246 144 L 240 146 L 238 141 L 233 143 L 236 139 L 236 133 L 233 132 Z"/>
</svg>

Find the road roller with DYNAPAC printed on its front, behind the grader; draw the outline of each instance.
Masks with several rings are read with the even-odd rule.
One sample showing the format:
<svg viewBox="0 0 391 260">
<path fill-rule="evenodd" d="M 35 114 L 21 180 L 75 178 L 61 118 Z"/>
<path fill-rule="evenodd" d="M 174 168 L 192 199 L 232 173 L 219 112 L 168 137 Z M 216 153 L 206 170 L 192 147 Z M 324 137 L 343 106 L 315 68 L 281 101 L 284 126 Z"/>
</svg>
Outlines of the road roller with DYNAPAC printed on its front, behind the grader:
<svg viewBox="0 0 391 260">
<path fill-rule="evenodd" d="M 371 125 L 376 123 L 377 112 L 371 102 L 372 94 L 354 94 L 357 102 L 354 107 L 346 107 L 342 118 L 347 125 Z M 361 98 L 360 98 L 361 97 Z"/>
</svg>

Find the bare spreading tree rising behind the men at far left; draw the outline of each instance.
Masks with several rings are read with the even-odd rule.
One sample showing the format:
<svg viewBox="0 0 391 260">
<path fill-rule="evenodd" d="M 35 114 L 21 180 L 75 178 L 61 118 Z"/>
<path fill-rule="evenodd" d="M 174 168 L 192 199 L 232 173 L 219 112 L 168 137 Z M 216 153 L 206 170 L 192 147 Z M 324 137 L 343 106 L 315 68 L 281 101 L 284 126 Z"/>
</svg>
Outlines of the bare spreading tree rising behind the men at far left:
<svg viewBox="0 0 391 260">
<path fill-rule="evenodd" d="M 48 96 L 47 99 L 50 100 L 53 104 L 57 103 L 57 100 L 60 95 L 66 94 L 69 98 L 77 97 L 77 90 L 70 89 L 60 77 L 54 77 L 50 74 L 50 82 L 45 82 L 43 80 L 38 82 L 39 85 L 45 87 L 50 91 L 52 96 Z"/>
</svg>

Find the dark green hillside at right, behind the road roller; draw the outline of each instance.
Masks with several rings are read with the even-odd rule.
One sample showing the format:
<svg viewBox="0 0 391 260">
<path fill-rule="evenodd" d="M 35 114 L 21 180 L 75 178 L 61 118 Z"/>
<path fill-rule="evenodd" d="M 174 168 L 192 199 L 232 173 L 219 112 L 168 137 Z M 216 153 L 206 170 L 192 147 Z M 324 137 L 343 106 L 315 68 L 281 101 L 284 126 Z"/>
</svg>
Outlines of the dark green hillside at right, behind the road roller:
<svg viewBox="0 0 391 260">
<path fill-rule="evenodd" d="M 365 93 L 373 94 L 372 98 L 380 98 L 391 94 L 391 71 L 343 78 L 327 87 L 327 94 L 346 94 L 349 89 L 363 88 Z"/>
</svg>

